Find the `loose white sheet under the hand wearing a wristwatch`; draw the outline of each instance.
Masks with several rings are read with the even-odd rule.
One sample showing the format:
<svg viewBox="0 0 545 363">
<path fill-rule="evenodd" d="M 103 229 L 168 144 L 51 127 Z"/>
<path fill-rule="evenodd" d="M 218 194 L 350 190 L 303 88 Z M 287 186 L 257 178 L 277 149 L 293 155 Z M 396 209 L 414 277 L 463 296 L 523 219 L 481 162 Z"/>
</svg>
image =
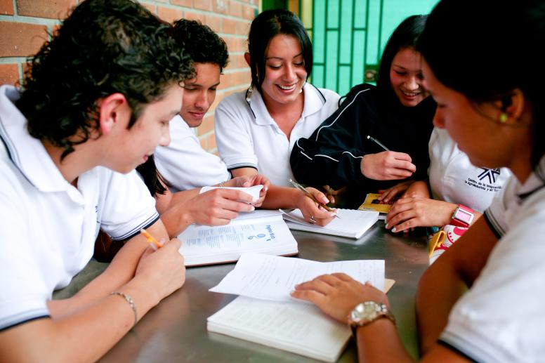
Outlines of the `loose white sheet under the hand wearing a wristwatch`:
<svg viewBox="0 0 545 363">
<path fill-rule="evenodd" d="M 244 253 L 235 269 L 209 291 L 272 301 L 292 301 L 289 293 L 296 284 L 334 272 L 344 272 L 359 282 L 369 281 L 377 289 L 384 289 L 384 260 L 316 262 Z"/>
</svg>

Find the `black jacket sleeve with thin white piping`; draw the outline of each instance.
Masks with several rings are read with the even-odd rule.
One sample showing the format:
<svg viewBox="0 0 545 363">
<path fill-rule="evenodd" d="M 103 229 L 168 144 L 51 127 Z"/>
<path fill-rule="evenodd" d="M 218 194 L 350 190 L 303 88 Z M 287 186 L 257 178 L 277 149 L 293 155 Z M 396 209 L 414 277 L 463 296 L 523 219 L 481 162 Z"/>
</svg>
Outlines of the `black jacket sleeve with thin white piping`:
<svg viewBox="0 0 545 363">
<path fill-rule="evenodd" d="M 365 155 L 361 135 L 369 125 L 369 88 L 354 88 L 336 112 L 314 131 L 300 138 L 291 151 L 290 164 L 295 178 L 312 185 L 365 184 L 360 164 Z M 371 112 L 372 113 L 372 112 Z"/>
</svg>

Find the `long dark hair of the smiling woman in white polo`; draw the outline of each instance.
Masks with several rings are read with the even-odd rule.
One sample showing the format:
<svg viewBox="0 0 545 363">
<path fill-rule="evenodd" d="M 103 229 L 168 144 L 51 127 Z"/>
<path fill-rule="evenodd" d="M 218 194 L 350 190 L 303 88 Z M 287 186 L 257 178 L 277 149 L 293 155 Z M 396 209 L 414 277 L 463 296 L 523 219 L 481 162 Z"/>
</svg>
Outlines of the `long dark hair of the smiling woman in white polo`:
<svg viewBox="0 0 545 363">
<path fill-rule="evenodd" d="M 265 80 L 265 53 L 272 38 L 278 34 L 293 35 L 301 44 L 307 78 L 313 70 L 313 44 L 303 22 L 284 9 L 265 10 L 251 22 L 248 34 L 251 85 L 261 92 Z"/>
</svg>

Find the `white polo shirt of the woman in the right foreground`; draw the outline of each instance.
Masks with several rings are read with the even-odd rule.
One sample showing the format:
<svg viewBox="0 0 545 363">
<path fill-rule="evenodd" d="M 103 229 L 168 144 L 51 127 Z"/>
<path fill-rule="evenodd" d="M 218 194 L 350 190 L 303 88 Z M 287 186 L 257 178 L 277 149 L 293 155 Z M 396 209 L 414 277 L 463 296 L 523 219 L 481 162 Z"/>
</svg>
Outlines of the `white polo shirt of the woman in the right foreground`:
<svg viewBox="0 0 545 363">
<path fill-rule="evenodd" d="M 513 176 L 485 212 L 501 236 L 440 341 L 477 362 L 545 357 L 545 157 L 521 185 Z"/>
</svg>

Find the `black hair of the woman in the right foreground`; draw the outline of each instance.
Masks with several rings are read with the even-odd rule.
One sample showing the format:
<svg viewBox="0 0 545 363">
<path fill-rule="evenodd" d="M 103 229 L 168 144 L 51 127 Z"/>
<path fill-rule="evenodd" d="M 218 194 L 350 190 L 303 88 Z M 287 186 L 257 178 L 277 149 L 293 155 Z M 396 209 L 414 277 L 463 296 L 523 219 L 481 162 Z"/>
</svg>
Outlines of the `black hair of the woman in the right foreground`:
<svg viewBox="0 0 545 363">
<path fill-rule="evenodd" d="M 417 49 L 435 77 L 474 103 L 501 100 L 516 88 L 532 105 L 532 166 L 545 154 L 543 0 L 442 0 Z"/>
</svg>

